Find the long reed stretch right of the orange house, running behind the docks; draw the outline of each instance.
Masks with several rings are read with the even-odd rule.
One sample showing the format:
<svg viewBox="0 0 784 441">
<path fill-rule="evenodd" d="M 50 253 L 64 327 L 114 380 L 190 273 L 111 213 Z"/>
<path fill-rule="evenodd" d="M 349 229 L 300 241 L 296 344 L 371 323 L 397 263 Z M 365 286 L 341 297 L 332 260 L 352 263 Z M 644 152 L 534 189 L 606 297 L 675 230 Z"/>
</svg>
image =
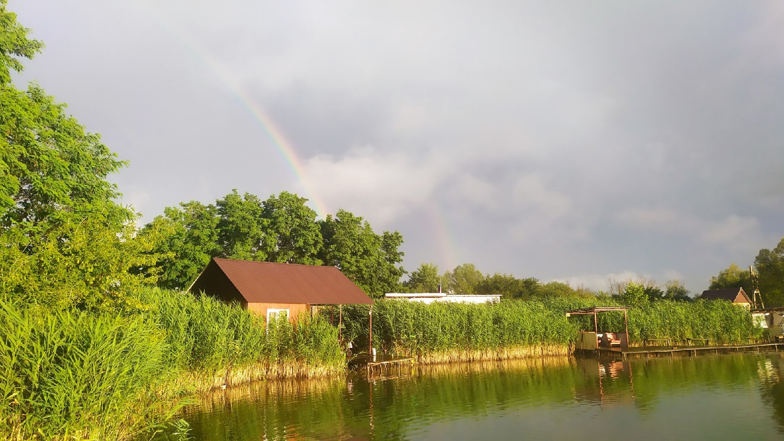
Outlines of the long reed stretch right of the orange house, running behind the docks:
<svg viewBox="0 0 784 441">
<path fill-rule="evenodd" d="M 593 316 L 567 319 L 564 312 L 591 306 L 619 306 L 605 299 L 557 298 L 496 304 L 423 304 L 376 301 L 373 346 L 386 353 L 415 356 L 419 363 L 442 363 L 565 355 L 578 330 L 593 330 Z M 346 335 L 368 350 L 368 306 L 343 309 Z M 623 313 L 599 315 L 600 330 L 623 330 Z M 750 314 L 724 301 L 655 301 L 628 312 L 630 344 L 645 338 L 712 338 L 716 344 L 745 343 L 760 337 Z"/>
</svg>

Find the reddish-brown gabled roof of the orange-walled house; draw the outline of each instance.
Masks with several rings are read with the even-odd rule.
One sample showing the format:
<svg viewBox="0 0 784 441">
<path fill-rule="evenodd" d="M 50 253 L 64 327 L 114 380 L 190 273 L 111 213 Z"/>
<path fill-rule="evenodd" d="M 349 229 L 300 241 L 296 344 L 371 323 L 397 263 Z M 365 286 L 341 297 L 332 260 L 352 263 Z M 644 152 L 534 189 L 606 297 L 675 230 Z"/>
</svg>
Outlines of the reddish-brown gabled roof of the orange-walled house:
<svg viewBox="0 0 784 441">
<path fill-rule="evenodd" d="M 207 291 L 205 286 L 223 275 L 248 303 L 373 303 L 367 294 L 335 267 L 234 261 L 217 257 L 201 272 L 191 290 Z"/>
</svg>

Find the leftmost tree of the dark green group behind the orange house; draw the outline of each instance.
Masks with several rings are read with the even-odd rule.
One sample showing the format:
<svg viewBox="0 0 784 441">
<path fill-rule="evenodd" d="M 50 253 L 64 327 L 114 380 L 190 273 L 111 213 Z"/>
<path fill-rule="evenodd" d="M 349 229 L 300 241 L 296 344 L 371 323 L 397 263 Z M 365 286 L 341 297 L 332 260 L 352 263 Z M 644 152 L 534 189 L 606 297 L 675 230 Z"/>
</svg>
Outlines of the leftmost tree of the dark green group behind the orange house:
<svg viewBox="0 0 784 441">
<path fill-rule="evenodd" d="M 158 268 L 158 286 L 184 290 L 198 277 L 212 257 L 221 255 L 218 243 L 215 206 L 201 202 L 181 203 L 180 208 L 166 207 L 162 216 L 145 225 L 140 235 L 156 234 L 152 253 L 162 257 Z"/>
</svg>

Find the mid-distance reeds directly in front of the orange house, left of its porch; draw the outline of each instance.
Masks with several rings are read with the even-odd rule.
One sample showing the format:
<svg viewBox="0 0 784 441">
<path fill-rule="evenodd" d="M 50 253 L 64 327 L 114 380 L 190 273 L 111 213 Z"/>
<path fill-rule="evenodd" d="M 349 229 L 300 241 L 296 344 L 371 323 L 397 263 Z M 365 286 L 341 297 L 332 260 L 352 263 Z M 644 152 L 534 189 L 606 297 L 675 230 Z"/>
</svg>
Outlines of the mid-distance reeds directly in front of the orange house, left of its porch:
<svg viewBox="0 0 784 441">
<path fill-rule="evenodd" d="M 337 329 L 324 319 L 299 317 L 294 325 L 282 319 L 265 328 L 263 317 L 212 297 L 148 289 L 140 301 L 165 330 L 166 356 L 178 370 L 214 374 L 232 366 L 256 363 L 301 363 L 343 370 L 345 356 Z"/>
</svg>

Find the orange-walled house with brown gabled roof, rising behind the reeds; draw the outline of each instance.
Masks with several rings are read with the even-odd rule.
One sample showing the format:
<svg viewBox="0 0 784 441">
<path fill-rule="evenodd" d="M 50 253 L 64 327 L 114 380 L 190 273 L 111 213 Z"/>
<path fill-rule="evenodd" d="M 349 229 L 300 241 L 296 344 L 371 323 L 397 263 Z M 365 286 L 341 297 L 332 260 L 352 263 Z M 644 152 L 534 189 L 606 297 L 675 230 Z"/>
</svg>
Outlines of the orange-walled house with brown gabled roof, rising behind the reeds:
<svg viewBox="0 0 784 441">
<path fill-rule="evenodd" d="M 279 314 L 293 321 L 320 305 L 373 303 L 335 267 L 219 258 L 209 261 L 189 290 L 238 302 L 263 316 L 265 323 Z"/>
</svg>

